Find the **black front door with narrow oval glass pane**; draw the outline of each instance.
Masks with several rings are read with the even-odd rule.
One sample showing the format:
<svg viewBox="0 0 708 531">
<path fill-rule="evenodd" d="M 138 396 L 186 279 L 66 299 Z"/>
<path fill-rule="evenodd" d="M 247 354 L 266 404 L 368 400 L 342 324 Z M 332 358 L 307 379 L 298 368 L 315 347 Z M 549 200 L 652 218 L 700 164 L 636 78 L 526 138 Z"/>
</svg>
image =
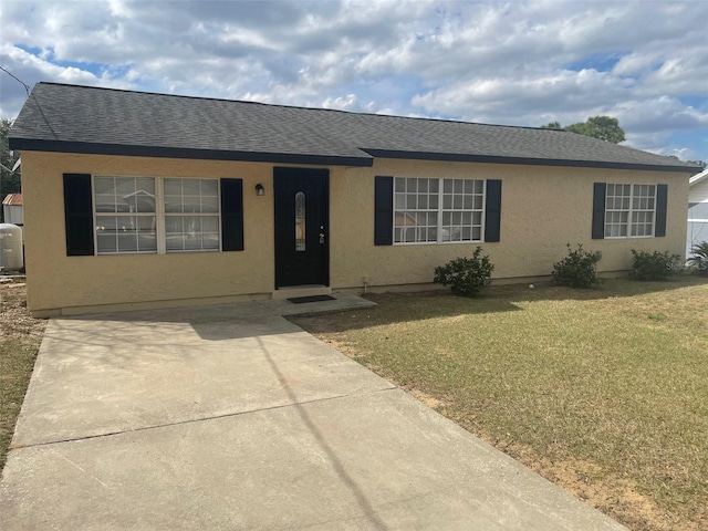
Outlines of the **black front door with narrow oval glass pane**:
<svg viewBox="0 0 708 531">
<path fill-rule="evenodd" d="M 330 285 L 327 169 L 274 168 L 275 288 Z"/>
</svg>

